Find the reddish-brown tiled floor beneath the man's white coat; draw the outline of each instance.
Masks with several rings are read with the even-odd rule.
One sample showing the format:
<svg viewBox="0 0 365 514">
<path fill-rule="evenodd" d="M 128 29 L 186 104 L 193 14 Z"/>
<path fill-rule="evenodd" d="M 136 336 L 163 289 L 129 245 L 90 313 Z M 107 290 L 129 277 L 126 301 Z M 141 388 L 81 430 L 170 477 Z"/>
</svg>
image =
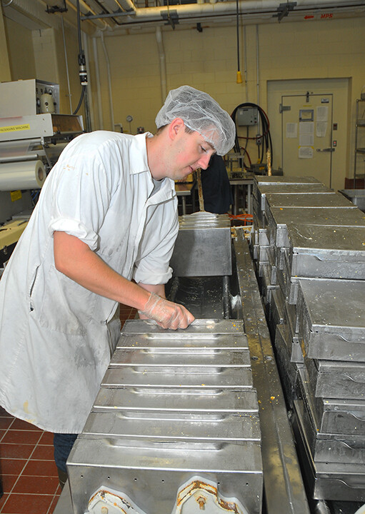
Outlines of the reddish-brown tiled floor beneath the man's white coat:
<svg viewBox="0 0 365 514">
<path fill-rule="evenodd" d="M 136 309 L 121 306 L 121 324 Z M 53 434 L 19 420 L 0 407 L 1 514 L 51 514 L 61 489 L 54 463 Z"/>
</svg>

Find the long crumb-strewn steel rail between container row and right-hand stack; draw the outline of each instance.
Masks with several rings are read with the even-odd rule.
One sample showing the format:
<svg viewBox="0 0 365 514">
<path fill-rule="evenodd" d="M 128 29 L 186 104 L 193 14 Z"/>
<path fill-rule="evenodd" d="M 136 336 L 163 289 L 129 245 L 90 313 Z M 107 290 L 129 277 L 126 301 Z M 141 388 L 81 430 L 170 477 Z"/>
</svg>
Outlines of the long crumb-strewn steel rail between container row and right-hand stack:
<svg viewBox="0 0 365 514">
<path fill-rule="evenodd" d="M 268 514 L 309 514 L 284 393 L 266 325 L 249 245 L 243 231 L 234 241 L 245 333 L 259 400 L 264 497 Z"/>
</svg>

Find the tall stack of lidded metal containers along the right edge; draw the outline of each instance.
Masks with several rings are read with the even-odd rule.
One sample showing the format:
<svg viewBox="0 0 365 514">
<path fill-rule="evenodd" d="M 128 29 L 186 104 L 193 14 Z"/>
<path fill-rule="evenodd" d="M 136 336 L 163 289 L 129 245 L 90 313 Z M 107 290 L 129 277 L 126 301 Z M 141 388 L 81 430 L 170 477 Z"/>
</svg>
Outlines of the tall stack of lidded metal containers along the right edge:
<svg viewBox="0 0 365 514">
<path fill-rule="evenodd" d="M 365 500 L 365 216 L 312 177 L 254 183 L 251 251 L 313 498 Z"/>
</svg>

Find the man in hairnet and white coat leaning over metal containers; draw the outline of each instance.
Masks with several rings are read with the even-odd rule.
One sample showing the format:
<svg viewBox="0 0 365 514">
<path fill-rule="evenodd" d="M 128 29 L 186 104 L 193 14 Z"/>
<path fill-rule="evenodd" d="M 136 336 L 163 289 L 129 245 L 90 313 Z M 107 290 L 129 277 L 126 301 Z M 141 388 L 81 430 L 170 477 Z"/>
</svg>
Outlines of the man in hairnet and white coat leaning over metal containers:
<svg viewBox="0 0 365 514">
<path fill-rule="evenodd" d="M 155 136 L 71 141 L 0 281 L 0 405 L 55 433 L 62 481 L 119 338 L 119 303 L 163 328 L 194 320 L 164 298 L 179 228 L 174 180 L 229 151 L 234 122 L 181 86 L 156 125 Z"/>
</svg>

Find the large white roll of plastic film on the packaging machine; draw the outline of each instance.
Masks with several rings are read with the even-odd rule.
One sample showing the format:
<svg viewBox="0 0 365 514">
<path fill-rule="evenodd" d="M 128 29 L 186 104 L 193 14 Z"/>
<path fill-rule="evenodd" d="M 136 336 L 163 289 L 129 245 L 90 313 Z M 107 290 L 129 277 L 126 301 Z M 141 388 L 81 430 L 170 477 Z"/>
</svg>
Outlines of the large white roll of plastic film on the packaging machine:
<svg viewBox="0 0 365 514">
<path fill-rule="evenodd" d="M 0 191 L 37 189 L 43 186 L 46 171 L 42 161 L 19 161 L 0 164 Z"/>
</svg>

